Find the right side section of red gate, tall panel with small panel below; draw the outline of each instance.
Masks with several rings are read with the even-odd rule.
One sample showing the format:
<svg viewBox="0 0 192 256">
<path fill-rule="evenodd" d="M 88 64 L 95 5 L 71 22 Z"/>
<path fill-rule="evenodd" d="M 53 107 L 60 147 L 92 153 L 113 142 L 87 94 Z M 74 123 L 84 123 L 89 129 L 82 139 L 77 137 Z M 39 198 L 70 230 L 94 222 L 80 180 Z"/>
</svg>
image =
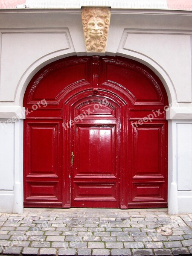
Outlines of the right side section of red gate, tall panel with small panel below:
<svg viewBox="0 0 192 256">
<path fill-rule="evenodd" d="M 161 122 L 161 123 L 160 123 Z M 131 185 L 130 207 L 143 202 L 146 207 L 166 201 L 166 123 L 147 122 L 132 127 L 133 166 L 129 183 Z M 132 184 L 131 184 L 132 183 Z"/>
</svg>

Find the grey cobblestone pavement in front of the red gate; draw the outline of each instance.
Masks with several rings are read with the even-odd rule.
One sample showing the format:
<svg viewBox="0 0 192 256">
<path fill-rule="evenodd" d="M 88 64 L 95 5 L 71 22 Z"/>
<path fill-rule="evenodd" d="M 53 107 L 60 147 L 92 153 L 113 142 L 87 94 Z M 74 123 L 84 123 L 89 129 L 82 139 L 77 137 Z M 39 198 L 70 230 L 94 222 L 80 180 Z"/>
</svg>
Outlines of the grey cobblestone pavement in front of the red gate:
<svg viewBox="0 0 192 256">
<path fill-rule="evenodd" d="M 157 232 L 168 227 L 171 235 Z M 192 214 L 167 209 L 25 209 L 0 213 L 0 254 L 192 255 Z"/>
</svg>

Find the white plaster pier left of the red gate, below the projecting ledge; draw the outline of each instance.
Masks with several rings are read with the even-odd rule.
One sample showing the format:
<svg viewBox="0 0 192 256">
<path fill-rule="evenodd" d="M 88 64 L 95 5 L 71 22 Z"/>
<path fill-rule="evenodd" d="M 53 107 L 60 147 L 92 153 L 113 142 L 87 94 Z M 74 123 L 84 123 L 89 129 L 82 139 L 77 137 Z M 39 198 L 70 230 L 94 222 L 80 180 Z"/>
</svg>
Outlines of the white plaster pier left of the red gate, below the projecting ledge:
<svg viewBox="0 0 192 256">
<path fill-rule="evenodd" d="M 23 186 L 23 120 L 16 120 L 13 123 L 9 123 L 9 121 L 7 123 L 7 121 L 8 119 L 0 119 L 0 212 L 13 211 L 16 182 L 19 180 Z M 22 186 L 20 186 L 20 190 L 22 190 Z M 16 205 L 14 212 L 22 212 L 22 196 L 23 192 L 17 193 L 20 210 L 17 211 L 18 206 Z"/>
</svg>

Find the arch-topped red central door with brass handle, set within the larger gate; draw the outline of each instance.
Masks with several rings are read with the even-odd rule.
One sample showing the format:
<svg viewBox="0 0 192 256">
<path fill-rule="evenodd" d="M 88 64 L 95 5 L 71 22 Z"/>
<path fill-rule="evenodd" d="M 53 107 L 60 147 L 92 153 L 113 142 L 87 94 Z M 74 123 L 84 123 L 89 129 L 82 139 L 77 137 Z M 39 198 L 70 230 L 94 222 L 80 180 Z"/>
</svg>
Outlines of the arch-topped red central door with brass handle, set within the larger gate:
<svg viewBox="0 0 192 256">
<path fill-rule="evenodd" d="M 120 206 L 120 111 L 111 104 L 90 96 L 72 108 L 72 207 Z"/>
</svg>

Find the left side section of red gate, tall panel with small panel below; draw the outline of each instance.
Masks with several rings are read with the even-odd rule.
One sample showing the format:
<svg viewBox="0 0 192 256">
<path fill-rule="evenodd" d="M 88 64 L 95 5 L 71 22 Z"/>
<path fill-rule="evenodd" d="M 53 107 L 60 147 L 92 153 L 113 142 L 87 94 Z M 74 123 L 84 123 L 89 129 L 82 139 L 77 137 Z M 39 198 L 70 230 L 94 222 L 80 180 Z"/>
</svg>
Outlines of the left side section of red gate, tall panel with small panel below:
<svg viewBox="0 0 192 256">
<path fill-rule="evenodd" d="M 59 152 L 58 122 L 37 122 L 26 124 L 28 145 L 26 145 L 25 205 L 61 207 L 61 154 Z"/>
</svg>

